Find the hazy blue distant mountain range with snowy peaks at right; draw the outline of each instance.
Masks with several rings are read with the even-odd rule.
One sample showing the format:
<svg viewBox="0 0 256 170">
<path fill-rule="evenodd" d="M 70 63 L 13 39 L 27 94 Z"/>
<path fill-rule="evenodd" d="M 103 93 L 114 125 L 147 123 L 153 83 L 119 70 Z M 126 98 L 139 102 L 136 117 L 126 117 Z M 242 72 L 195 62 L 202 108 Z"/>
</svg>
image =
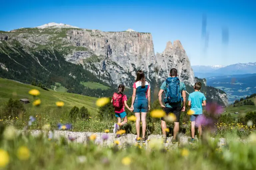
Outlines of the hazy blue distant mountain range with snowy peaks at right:
<svg viewBox="0 0 256 170">
<path fill-rule="evenodd" d="M 192 66 L 195 76 L 198 78 L 207 78 L 212 76 L 222 75 L 238 75 L 238 74 L 252 74 L 256 73 L 256 62 L 252 63 L 237 63 L 228 66 L 213 65 L 203 66 L 195 65 Z"/>
</svg>

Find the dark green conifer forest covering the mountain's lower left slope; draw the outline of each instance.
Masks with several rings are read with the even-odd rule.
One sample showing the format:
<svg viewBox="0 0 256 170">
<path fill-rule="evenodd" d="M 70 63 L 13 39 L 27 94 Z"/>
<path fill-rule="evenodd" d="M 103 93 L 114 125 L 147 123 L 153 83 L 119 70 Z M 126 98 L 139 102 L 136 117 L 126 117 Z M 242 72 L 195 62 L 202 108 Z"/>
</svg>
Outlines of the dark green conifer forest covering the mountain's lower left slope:
<svg viewBox="0 0 256 170">
<path fill-rule="evenodd" d="M 8 46 L 7 51 L 12 51 Z M 18 64 L 5 53 L 0 53 L 0 62 L 5 63 L 7 70 L 0 67 L 0 77 L 17 80 L 23 83 L 50 88 L 51 85 L 60 83 L 68 89 L 70 93 L 76 93 L 92 97 L 111 96 L 115 88 L 99 80 L 94 74 L 85 70 L 80 64 L 67 62 L 59 51 L 46 50 L 37 51 L 31 54 L 26 53 L 21 47 L 17 47 L 23 57 L 17 56 L 15 52 L 9 53 L 9 56 L 15 59 Z M 48 56 L 48 57 L 45 57 Z M 38 58 L 39 62 L 35 60 Z M 26 59 L 24 59 L 26 58 Z M 84 87 L 80 82 L 97 82 L 110 89 L 89 89 Z"/>
</svg>

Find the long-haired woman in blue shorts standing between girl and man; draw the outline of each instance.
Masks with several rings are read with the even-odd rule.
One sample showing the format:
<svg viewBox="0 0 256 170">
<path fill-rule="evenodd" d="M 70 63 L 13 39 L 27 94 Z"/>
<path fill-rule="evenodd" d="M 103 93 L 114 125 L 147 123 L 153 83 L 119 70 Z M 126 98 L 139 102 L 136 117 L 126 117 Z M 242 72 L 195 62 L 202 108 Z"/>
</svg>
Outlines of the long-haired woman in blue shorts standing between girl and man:
<svg viewBox="0 0 256 170">
<path fill-rule="evenodd" d="M 133 84 L 133 94 L 132 94 L 132 106 L 131 109 L 135 113 L 136 117 L 136 131 L 137 137 L 136 142 L 142 141 L 145 143 L 145 133 L 146 133 L 146 115 L 148 110 L 150 110 L 150 85 L 149 82 L 145 80 L 143 71 L 137 71 L 137 79 Z M 140 113 L 142 122 L 142 138 L 140 137 Z"/>
</svg>

